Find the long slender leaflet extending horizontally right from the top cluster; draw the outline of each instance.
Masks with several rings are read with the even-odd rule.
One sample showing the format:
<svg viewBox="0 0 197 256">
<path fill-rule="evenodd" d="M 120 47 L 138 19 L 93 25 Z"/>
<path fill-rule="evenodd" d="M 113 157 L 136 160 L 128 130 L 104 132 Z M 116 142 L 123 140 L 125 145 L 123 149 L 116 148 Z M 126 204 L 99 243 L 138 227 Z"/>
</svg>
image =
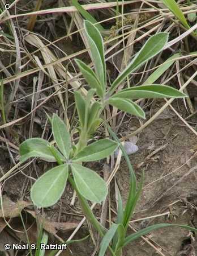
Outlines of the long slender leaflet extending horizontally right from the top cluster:
<svg viewBox="0 0 197 256">
<path fill-rule="evenodd" d="M 185 93 L 179 92 L 167 85 L 141 85 L 131 88 L 123 89 L 118 93 L 115 93 L 111 98 L 184 98 L 187 97 Z"/>
</svg>

